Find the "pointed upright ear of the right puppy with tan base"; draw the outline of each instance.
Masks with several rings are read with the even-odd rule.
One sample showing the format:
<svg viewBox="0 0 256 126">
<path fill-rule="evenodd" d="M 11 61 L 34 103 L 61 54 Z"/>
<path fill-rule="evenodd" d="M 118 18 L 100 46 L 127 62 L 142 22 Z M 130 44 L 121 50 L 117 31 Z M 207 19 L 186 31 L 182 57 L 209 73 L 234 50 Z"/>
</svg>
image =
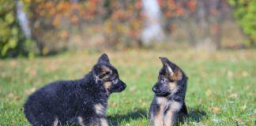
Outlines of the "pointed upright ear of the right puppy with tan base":
<svg viewBox="0 0 256 126">
<path fill-rule="evenodd" d="M 166 57 L 159 58 L 162 61 L 163 66 L 166 69 L 166 72 L 168 73 L 170 80 L 182 80 L 183 73 L 177 65 L 169 61 L 168 58 Z"/>
</svg>

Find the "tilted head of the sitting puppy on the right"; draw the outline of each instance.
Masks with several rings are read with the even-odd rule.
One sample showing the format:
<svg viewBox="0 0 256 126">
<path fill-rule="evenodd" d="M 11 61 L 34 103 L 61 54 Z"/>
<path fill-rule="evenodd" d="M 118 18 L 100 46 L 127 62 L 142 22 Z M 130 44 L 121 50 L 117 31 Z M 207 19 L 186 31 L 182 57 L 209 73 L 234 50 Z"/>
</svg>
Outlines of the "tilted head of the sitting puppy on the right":
<svg viewBox="0 0 256 126">
<path fill-rule="evenodd" d="M 159 57 L 163 63 L 160 69 L 158 80 L 152 87 L 152 91 L 156 96 L 168 96 L 179 91 L 179 86 L 183 84 L 183 80 L 187 80 L 179 66 L 175 65 L 166 57 Z"/>
</svg>

